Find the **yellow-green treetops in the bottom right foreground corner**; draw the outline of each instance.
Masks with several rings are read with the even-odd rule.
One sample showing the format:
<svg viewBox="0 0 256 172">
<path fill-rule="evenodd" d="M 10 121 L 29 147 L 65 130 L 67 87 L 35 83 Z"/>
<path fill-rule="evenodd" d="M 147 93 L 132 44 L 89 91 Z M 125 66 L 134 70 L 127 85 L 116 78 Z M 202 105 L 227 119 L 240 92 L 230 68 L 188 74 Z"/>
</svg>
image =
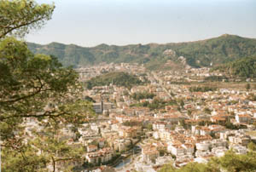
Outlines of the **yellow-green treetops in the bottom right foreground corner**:
<svg viewBox="0 0 256 172">
<path fill-rule="evenodd" d="M 180 169 L 172 164 L 164 165 L 158 172 L 251 172 L 256 170 L 256 154 L 236 154 L 228 151 L 221 158 L 212 158 L 208 163 L 188 163 Z"/>
</svg>

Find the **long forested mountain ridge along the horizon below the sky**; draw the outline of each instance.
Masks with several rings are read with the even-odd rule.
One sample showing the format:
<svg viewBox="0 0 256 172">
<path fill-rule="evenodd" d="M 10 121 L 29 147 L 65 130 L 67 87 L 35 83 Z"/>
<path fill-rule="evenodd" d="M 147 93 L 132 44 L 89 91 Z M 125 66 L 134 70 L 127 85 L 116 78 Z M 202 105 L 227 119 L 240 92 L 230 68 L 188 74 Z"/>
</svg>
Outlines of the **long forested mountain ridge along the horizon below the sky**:
<svg viewBox="0 0 256 172">
<path fill-rule="evenodd" d="M 61 43 L 39 45 L 28 43 L 29 49 L 37 54 L 53 54 L 65 66 L 86 66 L 100 62 L 137 62 L 149 69 L 169 63 L 183 66 L 217 66 L 224 62 L 256 55 L 256 39 L 222 35 L 207 40 L 189 43 L 149 43 L 146 45 L 115 46 L 101 44 L 92 48 Z M 183 56 L 183 57 L 180 57 Z M 171 61 L 171 63 L 170 63 Z"/>
</svg>

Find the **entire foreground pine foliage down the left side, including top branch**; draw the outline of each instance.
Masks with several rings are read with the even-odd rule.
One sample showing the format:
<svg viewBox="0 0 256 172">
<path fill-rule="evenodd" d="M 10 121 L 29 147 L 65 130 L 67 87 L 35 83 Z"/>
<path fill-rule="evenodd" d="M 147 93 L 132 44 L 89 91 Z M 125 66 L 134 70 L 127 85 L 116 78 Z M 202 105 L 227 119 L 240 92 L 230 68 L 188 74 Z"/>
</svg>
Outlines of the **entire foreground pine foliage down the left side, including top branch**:
<svg viewBox="0 0 256 172">
<path fill-rule="evenodd" d="M 79 162 L 81 146 L 67 145 L 61 128 L 78 127 L 93 115 L 79 98 L 82 85 L 72 68 L 52 55 L 33 54 L 18 40 L 44 26 L 54 4 L 33 0 L 0 1 L 0 136 L 2 170 L 51 171 L 57 163 Z M 27 129 L 26 123 L 35 125 Z M 37 123 L 37 124 L 36 124 Z M 71 171 L 72 166 L 64 166 Z"/>
</svg>

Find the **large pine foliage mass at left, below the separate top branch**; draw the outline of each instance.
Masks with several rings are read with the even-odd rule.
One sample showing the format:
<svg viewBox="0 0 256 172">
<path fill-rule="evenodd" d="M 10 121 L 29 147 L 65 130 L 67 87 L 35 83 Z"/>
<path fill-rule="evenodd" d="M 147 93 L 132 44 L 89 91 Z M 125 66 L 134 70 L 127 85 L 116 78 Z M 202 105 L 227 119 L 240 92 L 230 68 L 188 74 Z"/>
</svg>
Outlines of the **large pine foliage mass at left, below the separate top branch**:
<svg viewBox="0 0 256 172">
<path fill-rule="evenodd" d="M 38 135 L 35 140 L 40 141 L 29 140 L 26 144 L 22 126 L 25 119 L 34 118 L 47 130 L 58 128 L 61 122 L 81 123 L 93 114 L 92 107 L 87 101 L 76 100 L 81 88 L 78 74 L 73 69 L 63 68 L 54 57 L 32 54 L 25 43 L 13 37 L 1 41 L 0 54 L 3 54 L 0 58 L 0 129 L 5 145 L 3 170 L 41 171 L 52 161 L 49 155 L 60 159 L 59 154 L 49 153 L 52 136 L 47 140 Z M 54 144 L 53 147 L 58 146 Z M 38 149 L 44 153 L 35 154 Z M 73 159 L 78 155 L 72 156 L 74 149 L 69 150 L 59 151 L 61 158 Z"/>
</svg>

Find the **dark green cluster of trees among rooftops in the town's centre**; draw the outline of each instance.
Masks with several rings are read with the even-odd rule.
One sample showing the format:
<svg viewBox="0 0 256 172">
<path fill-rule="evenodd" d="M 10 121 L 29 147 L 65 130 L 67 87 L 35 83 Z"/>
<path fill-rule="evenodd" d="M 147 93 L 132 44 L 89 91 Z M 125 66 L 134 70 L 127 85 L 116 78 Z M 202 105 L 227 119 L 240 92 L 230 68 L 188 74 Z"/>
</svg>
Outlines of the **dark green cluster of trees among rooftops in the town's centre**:
<svg viewBox="0 0 256 172">
<path fill-rule="evenodd" d="M 177 101 L 176 100 L 154 99 L 153 102 L 151 102 L 151 103 L 149 103 L 148 101 L 145 101 L 143 103 L 131 104 L 131 107 L 132 106 L 143 106 L 143 107 L 148 107 L 152 111 L 152 110 L 157 110 L 157 109 L 163 109 L 169 105 L 177 105 Z"/>
</svg>

